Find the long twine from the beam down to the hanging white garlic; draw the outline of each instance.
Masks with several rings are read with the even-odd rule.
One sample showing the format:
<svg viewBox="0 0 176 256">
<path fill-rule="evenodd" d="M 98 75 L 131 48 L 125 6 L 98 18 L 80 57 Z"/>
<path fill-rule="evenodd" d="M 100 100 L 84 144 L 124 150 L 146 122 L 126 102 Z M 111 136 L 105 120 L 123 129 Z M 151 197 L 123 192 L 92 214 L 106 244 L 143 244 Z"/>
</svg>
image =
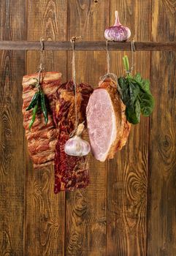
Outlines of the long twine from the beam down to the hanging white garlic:
<svg viewBox="0 0 176 256">
<path fill-rule="evenodd" d="M 78 118 L 77 118 L 77 83 L 76 83 L 76 69 L 75 69 L 75 50 L 74 50 L 74 42 L 76 39 L 80 39 L 81 37 L 72 37 L 70 42 L 72 43 L 72 80 L 74 84 L 74 112 L 75 112 L 75 123 L 74 130 L 70 133 L 70 137 L 72 137 L 77 132 L 78 126 Z"/>
</svg>

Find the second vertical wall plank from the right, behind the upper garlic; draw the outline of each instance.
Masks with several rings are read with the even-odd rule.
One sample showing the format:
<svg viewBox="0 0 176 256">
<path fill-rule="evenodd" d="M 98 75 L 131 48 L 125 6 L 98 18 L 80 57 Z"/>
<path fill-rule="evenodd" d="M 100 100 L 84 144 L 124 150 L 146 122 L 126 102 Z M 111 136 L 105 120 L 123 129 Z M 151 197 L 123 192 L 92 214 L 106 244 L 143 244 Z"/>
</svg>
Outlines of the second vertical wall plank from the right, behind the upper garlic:
<svg viewBox="0 0 176 256">
<path fill-rule="evenodd" d="M 118 10 L 131 38 L 150 41 L 150 1 L 111 0 L 110 25 Z M 111 72 L 124 74 L 122 57 L 110 53 Z M 127 53 L 131 61 L 131 53 Z M 134 53 L 134 74 L 150 78 L 150 53 Z M 148 118 L 131 127 L 129 142 L 108 162 L 107 169 L 107 255 L 146 255 L 148 197 Z"/>
</svg>

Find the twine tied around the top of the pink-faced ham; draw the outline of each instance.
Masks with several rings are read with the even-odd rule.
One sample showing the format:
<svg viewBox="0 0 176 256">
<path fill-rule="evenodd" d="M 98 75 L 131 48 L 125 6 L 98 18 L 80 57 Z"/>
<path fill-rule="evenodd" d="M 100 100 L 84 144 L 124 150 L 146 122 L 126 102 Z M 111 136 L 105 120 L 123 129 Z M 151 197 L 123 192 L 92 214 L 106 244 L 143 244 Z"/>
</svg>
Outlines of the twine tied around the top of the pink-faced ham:
<svg viewBox="0 0 176 256">
<path fill-rule="evenodd" d="M 115 73 L 111 73 L 110 72 L 110 52 L 108 50 L 108 40 L 106 41 L 106 50 L 107 50 L 107 73 L 105 75 L 103 75 L 100 80 L 102 80 L 102 83 L 104 82 L 105 79 L 107 78 L 111 78 L 112 81 L 117 84 L 118 87 L 118 92 L 120 94 L 120 97 L 122 98 L 122 93 L 121 93 L 121 89 L 120 86 L 118 85 L 118 77 L 117 75 L 115 75 Z M 102 84 L 100 83 L 100 84 Z"/>
</svg>

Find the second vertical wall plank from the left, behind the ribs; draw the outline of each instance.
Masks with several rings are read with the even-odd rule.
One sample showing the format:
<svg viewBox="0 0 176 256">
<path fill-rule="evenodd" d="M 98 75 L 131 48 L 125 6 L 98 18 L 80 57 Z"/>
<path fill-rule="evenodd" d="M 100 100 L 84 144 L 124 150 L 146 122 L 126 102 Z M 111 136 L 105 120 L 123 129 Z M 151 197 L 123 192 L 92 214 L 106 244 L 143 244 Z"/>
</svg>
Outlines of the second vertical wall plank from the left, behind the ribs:
<svg viewBox="0 0 176 256">
<path fill-rule="evenodd" d="M 66 40 L 67 1 L 28 0 L 28 40 Z M 28 51 L 27 72 L 36 72 L 39 52 Z M 46 71 L 66 79 L 66 52 L 44 53 Z M 65 195 L 54 195 L 54 170 L 26 165 L 26 255 L 64 255 Z"/>
</svg>

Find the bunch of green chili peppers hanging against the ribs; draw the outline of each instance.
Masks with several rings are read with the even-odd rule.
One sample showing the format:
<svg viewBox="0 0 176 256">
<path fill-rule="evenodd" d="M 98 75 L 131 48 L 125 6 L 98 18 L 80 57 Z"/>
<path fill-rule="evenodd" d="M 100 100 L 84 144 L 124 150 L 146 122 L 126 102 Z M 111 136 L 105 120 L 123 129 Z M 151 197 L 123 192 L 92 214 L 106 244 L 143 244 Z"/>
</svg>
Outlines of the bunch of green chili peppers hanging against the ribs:
<svg viewBox="0 0 176 256">
<path fill-rule="evenodd" d="M 38 91 L 32 97 L 31 102 L 28 105 L 28 108 L 26 108 L 26 111 L 33 109 L 32 118 L 29 124 L 29 129 L 31 129 L 32 125 L 34 124 L 34 121 L 37 115 L 37 110 L 39 109 L 39 105 L 42 109 L 42 113 L 45 118 L 45 124 L 47 124 L 47 121 L 48 121 L 47 107 L 45 103 L 45 94 L 43 93 L 38 80 L 35 86 L 37 87 Z"/>
</svg>

